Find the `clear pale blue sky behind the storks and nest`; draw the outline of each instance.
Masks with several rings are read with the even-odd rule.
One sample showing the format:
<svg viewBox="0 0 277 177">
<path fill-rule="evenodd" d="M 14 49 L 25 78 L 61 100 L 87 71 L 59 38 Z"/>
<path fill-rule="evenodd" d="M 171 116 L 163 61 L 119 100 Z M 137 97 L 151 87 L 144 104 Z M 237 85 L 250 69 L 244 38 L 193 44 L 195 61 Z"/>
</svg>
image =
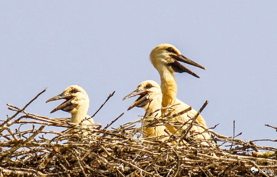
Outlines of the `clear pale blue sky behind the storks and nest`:
<svg viewBox="0 0 277 177">
<path fill-rule="evenodd" d="M 147 79 L 160 83 L 149 53 L 171 43 L 206 67 L 188 66 L 201 79 L 176 74 L 178 98 L 202 113 L 208 126 L 231 136 L 233 120 L 243 140 L 276 139 L 276 1 L 1 1 L 0 112 L 23 107 L 48 87 L 28 112 L 51 118 L 62 101 L 45 101 L 69 85 L 83 87 L 92 115 L 104 126 L 136 120 L 144 110 L 126 112 L 135 98 L 122 98 Z M 262 143 L 265 144 L 265 143 Z M 276 146 L 276 143 L 266 143 Z"/>
</svg>

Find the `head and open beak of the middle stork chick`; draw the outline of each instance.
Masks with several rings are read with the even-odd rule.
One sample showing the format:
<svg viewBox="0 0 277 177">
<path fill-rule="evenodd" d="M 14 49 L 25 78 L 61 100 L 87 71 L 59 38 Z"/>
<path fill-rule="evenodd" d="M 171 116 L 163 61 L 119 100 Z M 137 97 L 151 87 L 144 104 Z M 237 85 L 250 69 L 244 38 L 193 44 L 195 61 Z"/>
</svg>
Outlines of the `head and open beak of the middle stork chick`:
<svg viewBox="0 0 277 177">
<path fill-rule="evenodd" d="M 135 91 L 125 96 L 123 100 L 137 95 L 140 95 L 140 97 L 137 98 L 135 102 L 133 102 L 133 104 L 127 109 L 127 111 L 129 111 L 135 106 L 147 110 L 152 102 L 155 102 L 160 106 L 162 105 L 161 87 L 155 81 L 143 81 L 142 83 L 140 83 L 140 85 L 137 86 L 137 89 Z"/>
</svg>

